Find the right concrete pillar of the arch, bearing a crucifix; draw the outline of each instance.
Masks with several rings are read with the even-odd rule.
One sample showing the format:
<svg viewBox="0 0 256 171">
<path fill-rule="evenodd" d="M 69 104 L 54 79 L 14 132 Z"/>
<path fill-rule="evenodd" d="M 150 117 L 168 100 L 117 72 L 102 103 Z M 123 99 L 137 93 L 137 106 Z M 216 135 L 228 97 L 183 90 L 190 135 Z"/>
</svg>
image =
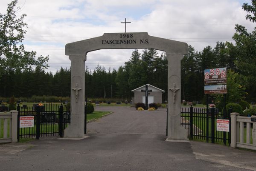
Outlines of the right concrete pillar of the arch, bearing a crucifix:
<svg viewBox="0 0 256 171">
<path fill-rule="evenodd" d="M 183 54 L 167 54 L 168 60 L 168 140 L 187 140 L 188 132 L 180 125 L 181 60 Z"/>
</svg>

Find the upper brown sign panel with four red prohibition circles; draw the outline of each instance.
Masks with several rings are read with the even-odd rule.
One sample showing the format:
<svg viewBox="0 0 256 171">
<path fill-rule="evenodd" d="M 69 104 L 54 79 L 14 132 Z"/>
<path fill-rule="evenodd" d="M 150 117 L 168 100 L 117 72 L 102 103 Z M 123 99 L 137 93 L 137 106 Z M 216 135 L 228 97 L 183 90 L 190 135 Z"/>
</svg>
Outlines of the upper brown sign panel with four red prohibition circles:
<svg viewBox="0 0 256 171">
<path fill-rule="evenodd" d="M 204 85 L 227 84 L 226 76 L 227 76 L 227 68 L 205 69 L 204 70 Z"/>
</svg>

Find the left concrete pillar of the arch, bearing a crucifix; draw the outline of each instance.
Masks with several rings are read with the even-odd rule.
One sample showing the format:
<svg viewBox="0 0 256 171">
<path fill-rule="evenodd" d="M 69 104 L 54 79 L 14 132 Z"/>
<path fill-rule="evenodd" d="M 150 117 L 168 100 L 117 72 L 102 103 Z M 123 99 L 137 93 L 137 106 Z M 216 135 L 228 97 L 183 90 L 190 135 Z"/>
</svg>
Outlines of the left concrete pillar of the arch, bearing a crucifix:
<svg viewBox="0 0 256 171">
<path fill-rule="evenodd" d="M 69 55 L 71 60 L 71 116 L 64 137 L 84 137 L 85 55 Z"/>
</svg>

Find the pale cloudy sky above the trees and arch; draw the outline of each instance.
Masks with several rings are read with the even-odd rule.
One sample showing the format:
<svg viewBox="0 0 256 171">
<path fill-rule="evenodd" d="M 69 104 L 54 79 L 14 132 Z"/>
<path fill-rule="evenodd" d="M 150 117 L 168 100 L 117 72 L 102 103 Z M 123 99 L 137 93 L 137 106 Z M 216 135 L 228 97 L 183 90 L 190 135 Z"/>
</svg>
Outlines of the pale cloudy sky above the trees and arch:
<svg viewBox="0 0 256 171">
<path fill-rule="evenodd" d="M 11 0 L 0 0 L 6 14 Z M 250 0 L 18 0 L 17 17 L 26 14 L 27 51 L 49 55 L 47 71 L 70 68 L 64 53 L 67 43 L 102 36 L 104 33 L 148 32 L 149 35 L 186 42 L 196 50 L 215 47 L 217 41 L 233 42 L 235 24 L 252 31 L 241 6 Z M 233 42 L 234 43 L 234 42 Z M 112 70 L 124 65 L 133 49 L 98 50 L 87 54 L 85 65 L 93 71 L 99 64 Z M 140 50 L 142 51 L 142 50 Z M 161 51 L 159 51 L 159 54 Z"/>
</svg>

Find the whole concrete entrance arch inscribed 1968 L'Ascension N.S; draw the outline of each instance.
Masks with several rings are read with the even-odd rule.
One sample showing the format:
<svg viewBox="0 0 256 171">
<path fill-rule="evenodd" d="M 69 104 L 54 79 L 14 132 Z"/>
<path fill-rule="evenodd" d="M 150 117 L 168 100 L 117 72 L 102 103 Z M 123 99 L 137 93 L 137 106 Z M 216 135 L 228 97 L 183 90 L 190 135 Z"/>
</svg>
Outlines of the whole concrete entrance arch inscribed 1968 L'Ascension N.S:
<svg viewBox="0 0 256 171">
<path fill-rule="evenodd" d="M 71 124 L 65 137 L 84 136 L 84 70 L 86 55 L 99 49 L 154 48 L 165 51 L 168 60 L 168 140 L 187 140 L 180 126 L 180 60 L 188 53 L 187 43 L 148 33 L 105 33 L 92 39 L 68 43 L 65 54 L 71 60 Z"/>
</svg>

